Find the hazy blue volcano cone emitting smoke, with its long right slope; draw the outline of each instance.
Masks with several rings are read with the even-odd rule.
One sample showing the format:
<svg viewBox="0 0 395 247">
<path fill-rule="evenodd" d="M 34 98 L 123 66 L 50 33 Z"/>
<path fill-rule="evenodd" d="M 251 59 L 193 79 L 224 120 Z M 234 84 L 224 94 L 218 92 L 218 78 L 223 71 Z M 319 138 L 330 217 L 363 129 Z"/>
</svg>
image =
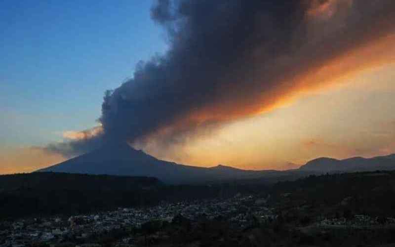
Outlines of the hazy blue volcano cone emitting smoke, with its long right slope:
<svg viewBox="0 0 395 247">
<path fill-rule="evenodd" d="M 133 149 L 127 143 L 107 144 L 92 152 L 38 171 L 148 176 L 171 184 L 251 178 L 265 172 L 242 170 L 225 165 L 214 167 L 180 165 L 158 160 L 141 150 Z"/>
</svg>

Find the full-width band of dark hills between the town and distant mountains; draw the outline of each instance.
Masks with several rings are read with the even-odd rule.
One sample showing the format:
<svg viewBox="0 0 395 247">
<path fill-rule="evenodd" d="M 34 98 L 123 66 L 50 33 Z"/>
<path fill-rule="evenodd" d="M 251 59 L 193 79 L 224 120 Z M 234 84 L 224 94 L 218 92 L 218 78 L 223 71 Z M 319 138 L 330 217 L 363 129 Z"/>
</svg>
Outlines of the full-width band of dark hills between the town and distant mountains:
<svg viewBox="0 0 395 247">
<path fill-rule="evenodd" d="M 149 177 L 37 172 L 0 176 L 0 219 L 145 207 L 238 193 L 264 198 L 270 194 L 269 202 L 288 218 L 334 217 L 346 210 L 395 216 L 395 171 L 311 175 L 276 184 L 250 179 L 205 185 L 166 185 Z"/>
</svg>

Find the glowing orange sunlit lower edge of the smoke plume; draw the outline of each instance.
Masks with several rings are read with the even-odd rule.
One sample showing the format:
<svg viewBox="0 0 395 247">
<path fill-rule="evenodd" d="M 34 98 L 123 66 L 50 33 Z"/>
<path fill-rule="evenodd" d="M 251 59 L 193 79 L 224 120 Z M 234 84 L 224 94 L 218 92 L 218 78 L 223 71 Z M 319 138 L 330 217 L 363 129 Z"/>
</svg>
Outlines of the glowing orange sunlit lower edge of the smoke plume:
<svg viewBox="0 0 395 247">
<path fill-rule="evenodd" d="M 318 64 L 301 75 L 283 79 L 272 91 L 263 91 L 257 98 L 243 98 L 240 102 L 215 104 L 190 113 L 186 122 L 196 125 L 207 122 L 232 121 L 247 116 L 254 116 L 272 111 L 287 105 L 306 93 L 322 90 L 328 87 L 350 82 L 358 73 L 395 62 L 395 35 L 391 34 L 364 46 L 349 50 L 325 64 Z M 363 59 L 361 59 L 363 58 Z M 242 105 L 243 107 L 239 107 Z M 178 123 L 172 128 L 180 129 L 184 123 Z M 169 127 L 168 127 L 169 128 Z M 167 129 L 168 129 L 167 128 Z M 164 131 L 165 132 L 165 131 Z"/>
</svg>

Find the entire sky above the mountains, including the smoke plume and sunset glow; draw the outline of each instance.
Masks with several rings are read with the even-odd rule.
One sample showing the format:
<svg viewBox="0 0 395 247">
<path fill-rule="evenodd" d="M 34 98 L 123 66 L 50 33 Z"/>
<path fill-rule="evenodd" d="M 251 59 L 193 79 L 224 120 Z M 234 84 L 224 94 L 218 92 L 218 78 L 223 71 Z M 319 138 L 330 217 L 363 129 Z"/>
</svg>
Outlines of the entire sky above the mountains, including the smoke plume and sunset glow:
<svg viewBox="0 0 395 247">
<path fill-rule="evenodd" d="M 1 2 L 0 174 L 109 139 L 186 165 L 246 169 L 395 153 L 395 27 L 380 6 L 312 0 L 295 25 L 298 11 L 277 23 L 299 8 L 291 3 L 219 13 L 228 8 L 207 3 L 215 22 L 202 19 L 203 3 L 175 13 L 155 4 Z M 248 8 L 269 14 L 249 19 Z"/>
</svg>

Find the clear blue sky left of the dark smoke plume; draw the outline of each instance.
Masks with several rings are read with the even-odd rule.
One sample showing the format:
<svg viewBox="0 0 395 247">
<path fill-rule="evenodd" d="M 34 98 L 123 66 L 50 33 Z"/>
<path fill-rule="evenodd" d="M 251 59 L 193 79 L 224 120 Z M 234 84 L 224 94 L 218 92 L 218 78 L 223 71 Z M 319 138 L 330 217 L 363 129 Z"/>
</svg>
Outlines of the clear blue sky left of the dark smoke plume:
<svg viewBox="0 0 395 247">
<path fill-rule="evenodd" d="M 102 96 L 166 50 L 152 1 L 1 1 L 0 145 L 95 125 Z"/>
</svg>

